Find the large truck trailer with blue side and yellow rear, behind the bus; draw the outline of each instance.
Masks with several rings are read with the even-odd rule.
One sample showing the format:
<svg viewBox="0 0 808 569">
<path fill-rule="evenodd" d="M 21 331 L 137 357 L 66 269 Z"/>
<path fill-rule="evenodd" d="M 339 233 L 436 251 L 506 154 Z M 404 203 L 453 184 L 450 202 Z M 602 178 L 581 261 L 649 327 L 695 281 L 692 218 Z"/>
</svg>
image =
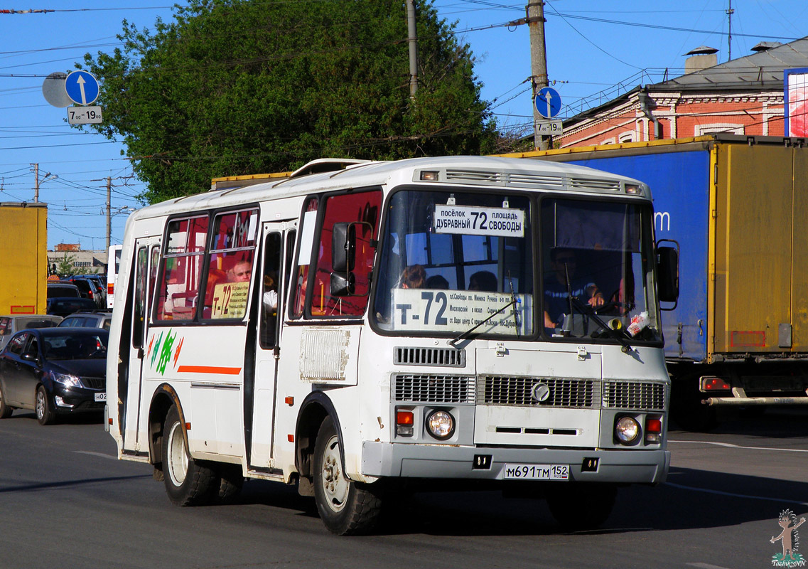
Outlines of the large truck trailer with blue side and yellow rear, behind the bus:
<svg viewBox="0 0 808 569">
<path fill-rule="evenodd" d="M 649 184 L 657 239 L 680 250 L 663 304 L 671 413 L 705 430 L 720 406 L 808 405 L 808 141 L 709 135 L 522 158 Z"/>
</svg>

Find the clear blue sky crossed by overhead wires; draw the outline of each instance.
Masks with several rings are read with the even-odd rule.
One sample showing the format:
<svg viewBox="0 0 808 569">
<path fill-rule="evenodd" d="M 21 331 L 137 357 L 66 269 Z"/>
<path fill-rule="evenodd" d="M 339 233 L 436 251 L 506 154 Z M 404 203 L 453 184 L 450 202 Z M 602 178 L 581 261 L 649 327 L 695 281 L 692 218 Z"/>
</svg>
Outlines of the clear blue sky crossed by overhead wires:
<svg viewBox="0 0 808 569">
<path fill-rule="evenodd" d="M 0 202 L 34 201 L 38 165 L 39 200 L 48 204 L 48 249 L 78 243 L 99 250 L 107 238 L 110 179 L 110 240 L 120 243 L 129 211 L 142 205 L 136 196 L 145 185 L 121 154 L 123 145 L 70 127 L 68 110 L 49 104 L 42 86 L 48 74 L 74 70 L 84 53 L 112 51 L 123 19 L 138 28 L 154 27 L 158 17 L 170 21 L 173 3 L 26 0 L 15 6 L 18 1 L 0 6 Z M 457 22 L 457 37 L 469 45 L 482 98 L 497 124 L 514 133 L 532 133 L 528 28 L 508 25 L 524 18 L 526 3 L 434 0 L 440 17 Z M 730 0 L 548 0 L 547 69 L 562 98 L 559 118 L 659 82 L 666 70 L 671 78 L 684 74 L 685 54 L 701 45 L 718 48 L 723 63 L 730 48 L 736 59 L 760 41 L 808 36 L 808 0 L 733 0 L 731 27 L 729 7 Z"/>
</svg>

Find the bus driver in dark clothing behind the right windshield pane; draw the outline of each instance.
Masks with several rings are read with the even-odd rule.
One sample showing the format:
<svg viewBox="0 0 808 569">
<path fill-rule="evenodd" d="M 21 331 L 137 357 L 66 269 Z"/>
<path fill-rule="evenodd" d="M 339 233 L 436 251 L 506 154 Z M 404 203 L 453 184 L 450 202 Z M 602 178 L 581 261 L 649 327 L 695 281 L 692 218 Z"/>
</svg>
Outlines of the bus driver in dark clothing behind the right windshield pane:
<svg viewBox="0 0 808 569">
<path fill-rule="evenodd" d="M 545 278 L 545 328 L 561 324 L 564 314 L 570 312 L 570 293 L 593 308 L 603 306 L 604 295 L 597 284 L 575 276 L 577 261 L 573 250 L 551 249 L 550 268 Z"/>
</svg>

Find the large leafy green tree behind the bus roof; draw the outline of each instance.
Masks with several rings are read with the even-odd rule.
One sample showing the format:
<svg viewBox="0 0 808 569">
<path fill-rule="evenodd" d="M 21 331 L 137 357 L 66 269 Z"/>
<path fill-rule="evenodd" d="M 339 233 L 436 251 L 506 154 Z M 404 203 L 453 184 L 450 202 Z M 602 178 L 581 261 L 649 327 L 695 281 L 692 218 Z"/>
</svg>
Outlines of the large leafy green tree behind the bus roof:
<svg viewBox="0 0 808 569">
<path fill-rule="evenodd" d="M 190 0 L 123 48 L 85 56 L 104 123 L 155 202 L 314 158 L 486 154 L 494 121 L 469 46 L 416 0 L 410 99 L 403 0 Z"/>
</svg>

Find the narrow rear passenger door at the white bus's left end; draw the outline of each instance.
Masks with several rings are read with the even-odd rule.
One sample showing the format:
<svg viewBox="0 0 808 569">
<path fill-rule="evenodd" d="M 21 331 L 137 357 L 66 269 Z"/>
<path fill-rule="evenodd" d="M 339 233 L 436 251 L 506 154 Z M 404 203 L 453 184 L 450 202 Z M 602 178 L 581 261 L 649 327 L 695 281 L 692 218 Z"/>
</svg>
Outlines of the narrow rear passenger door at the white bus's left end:
<svg viewBox="0 0 808 569">
<path fill-rule="evenodd" d="M 145 237 L 135 241 L 134 266 L 129 274 L 134 273 L 132 306 L 132 322 L 124 326 L 130 328 L 128 355 L 128 381 L 124 402 L 124 449 L 141 451 L 148 445 L 147 440 L 140 440 L 140 415 L 144 403 L 141 402 L 143 385 L 143 357 L 146 349 L 145 339 L 148 334 L 149 306 L 154 293 L 154 280 L 157 276 L 160 258 L 160 237 Z M 124 289 L 119 291 L 123 292 Z M 121 300 L 124 300 L 121 298 Z M 148 401 L 145 403 L 148 406 Z"/>
</svg>

